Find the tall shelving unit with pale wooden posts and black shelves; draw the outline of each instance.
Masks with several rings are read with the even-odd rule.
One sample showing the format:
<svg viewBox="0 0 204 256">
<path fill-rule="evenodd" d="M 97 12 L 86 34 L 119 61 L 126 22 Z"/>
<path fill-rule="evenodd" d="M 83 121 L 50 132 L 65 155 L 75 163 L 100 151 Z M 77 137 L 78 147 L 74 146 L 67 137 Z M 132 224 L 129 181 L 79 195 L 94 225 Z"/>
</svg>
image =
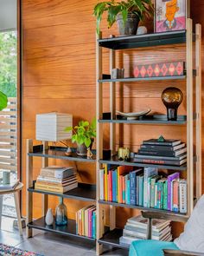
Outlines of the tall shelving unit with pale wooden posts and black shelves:
<svg viewBox="0 0 204 256">
<path fill-rule="evenodd" d="M 195 42 L 195 43 L 194 43 Z M 145 47 L 154 47 L 158 45 L 170 45 L 177 43 L 186 44 L 186 73 L 182 76 L 166 76 L 166 77 L 152 77 L 152 78 L 123 78 L 111 79 L 107 75 L 103 75 L 102 49 L 110 49 L 110 74 L 112 69 L 115 68 L 116 51 L 118 49 L 137 49 Z M 195 45 L 195 51 L 193 46 Z M 195 53 L 195 54 L 194 54 Z M 195 59 L 195 69 L 193 69 L 193 62 Z M 172 31 L 165 33 L 155 33 L 142 36 L 119 36 L 110 37 L 107 39 L 102 38 L 100 33 L 96 42 L 96 96 L 97 96 L 97 254 L 102 252 L 102 246 L 116 246 L 127 249 L 127 246 L 119 245 L 119 237 L 122 236 L 122 230 L 116 228 L 116 207 L 129 207 L 141 210 L 153 210 L 162 213 L 168 213 L 180 216 L 182 213 L 174 213 L 154 208 L 145 208 L 138 206 L 131 206 L 119 204 L 116 202 L 99 200 L 99 169 L 102 164 L 125 165 L 135 167 L 159 167 L 180 172 L 187 172 L 188 182 L 188 217 L 194 207 L 194 198 L 201 196 L 201 25 L 196 24 L 195 33 L 193 33 L 193 22 L 190 18 L 187 19 L 187 29 L 180 31 Z M 116 86 L 118 82 L 138 82 L 138 81 L 165 81 L 165 80 L 185 80 L 187 92 L 187 115 L 178 116 L 177 121 L 167 121 L 163 115 L 153 116 L 153 119 L 125 121 L 116 119 Z M 111 119 L 103 119 L 103 85 L 104 83 L 110 84 L 110 112 Z M 195 84 L 195 89 L 194 89 Z M 137 84 L 136 84 L 137 89 Z M 195 99 L 194 99 L 195 91 Z M 195 100 L 195 109 L 194 109 Z M 103 158 L 103 124 L 110 124 L 110 149 L 112 150 L 111 159 Z M 135 125 L 184 125 L 187 127 L 187 164 L 181 167 L 173 166 L 159 166 L 150 164 L 134 163 L 133 161 L 118 161 L 115 156 L 116 153 L 116 124 L 135 124 Z M 194 138 L 195 128 L 195 138 Z M 195 140 L 194 140 L 195 139 Z M 195 150 L 194 150 L 195 144 Z M 196 172 L 196 194 L 194 194 L 194 170 Z M 194 196 L 195 195 L 195 196 Z M 110 231 L 104 233 L 104 211 L 103 206 L 110 207 Z"/>
</svg>

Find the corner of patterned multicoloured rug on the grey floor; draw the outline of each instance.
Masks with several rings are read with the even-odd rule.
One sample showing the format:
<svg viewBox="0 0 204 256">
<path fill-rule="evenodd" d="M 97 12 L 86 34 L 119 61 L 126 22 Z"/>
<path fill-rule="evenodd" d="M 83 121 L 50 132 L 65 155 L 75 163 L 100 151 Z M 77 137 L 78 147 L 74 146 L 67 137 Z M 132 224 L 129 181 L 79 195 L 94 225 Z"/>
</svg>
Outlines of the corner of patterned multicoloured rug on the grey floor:
<svg viewBox="0 0 204 256">
<path fill-rule="evenodd" d="M 0 255 L 3 256 L 43 256 L 38 253 L 31 253 L 28 251 L 22 251 L 19 248 L 13 247 L 13 246 L 6 246 L 3 244 L 0 244 Z"/>
</svg>

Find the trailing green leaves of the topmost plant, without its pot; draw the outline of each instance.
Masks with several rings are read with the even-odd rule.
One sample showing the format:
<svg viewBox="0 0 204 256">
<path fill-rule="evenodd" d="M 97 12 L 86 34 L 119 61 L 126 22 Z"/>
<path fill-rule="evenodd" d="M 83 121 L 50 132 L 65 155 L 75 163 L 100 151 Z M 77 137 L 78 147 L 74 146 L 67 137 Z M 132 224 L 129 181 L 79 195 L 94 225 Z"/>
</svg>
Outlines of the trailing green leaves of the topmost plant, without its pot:
<svg viewBox="0 0 204 256">
<path fill-rule="evenodd" d="M 153 6 L 151 0 L 127 0 L 125 2 L 112 0 L 96 4 L 93 15 L 96 17 L 98 35 L 99 25 L 104 12 L 107 12 L 108 28 L 110 29 L 116 22 L 118 14 L 123 16 L 125 24 L 129 13 L 136 14 L 140 20 L 142 20 L 144 16 L 153 16 Z"/>
</svg>

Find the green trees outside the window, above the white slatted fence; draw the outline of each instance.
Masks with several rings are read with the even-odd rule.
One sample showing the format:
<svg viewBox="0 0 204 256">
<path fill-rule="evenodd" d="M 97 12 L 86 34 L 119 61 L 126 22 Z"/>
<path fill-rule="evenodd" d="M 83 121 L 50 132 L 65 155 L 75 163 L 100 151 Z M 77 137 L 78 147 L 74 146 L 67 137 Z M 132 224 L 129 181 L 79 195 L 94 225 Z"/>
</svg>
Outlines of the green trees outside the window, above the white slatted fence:
<svg viewBox="0 0 204 256">
<path fill-rule="evenodd" d="M 16 31 L 0 32 L 0 91 L 8 97 L 16 97 L 16 48 Z"/>
</svg>

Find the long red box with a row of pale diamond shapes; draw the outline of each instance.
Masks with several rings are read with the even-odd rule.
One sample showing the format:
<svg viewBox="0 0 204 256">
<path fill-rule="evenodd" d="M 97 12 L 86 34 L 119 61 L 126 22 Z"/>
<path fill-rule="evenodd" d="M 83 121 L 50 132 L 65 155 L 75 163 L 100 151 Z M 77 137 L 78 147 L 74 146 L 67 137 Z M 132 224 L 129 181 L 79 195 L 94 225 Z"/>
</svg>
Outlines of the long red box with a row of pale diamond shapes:
<svg viewBox="0 0 204 256">
<path fill-rule="evenodd" d="M 167 62 L 138 65 L 134 68 L 134 77 L 157 77 L 184 75 L 185 62 Z"/>
</svg>

